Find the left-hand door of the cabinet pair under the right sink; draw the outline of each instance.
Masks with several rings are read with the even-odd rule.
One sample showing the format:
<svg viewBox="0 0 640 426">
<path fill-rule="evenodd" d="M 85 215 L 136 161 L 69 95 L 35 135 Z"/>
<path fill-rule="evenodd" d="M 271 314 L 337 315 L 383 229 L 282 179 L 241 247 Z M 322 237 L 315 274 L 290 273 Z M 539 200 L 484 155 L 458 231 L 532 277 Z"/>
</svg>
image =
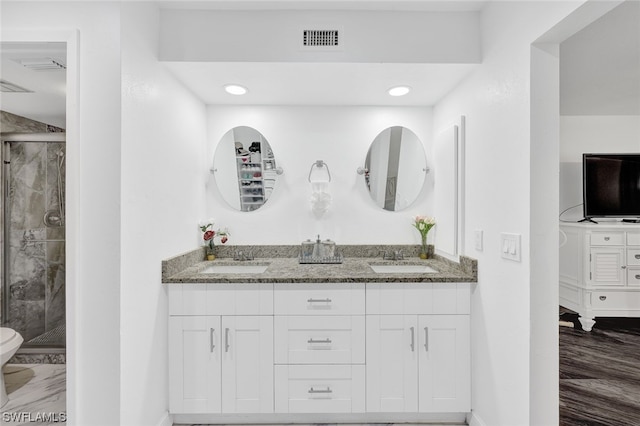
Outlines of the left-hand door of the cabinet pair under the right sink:
<svg viewBox="0 0 640 426">
<path fill-rule="evenodd" d="M 367 411 L 418 410 L 416 315 L 368 315 Z"/>
</svg>

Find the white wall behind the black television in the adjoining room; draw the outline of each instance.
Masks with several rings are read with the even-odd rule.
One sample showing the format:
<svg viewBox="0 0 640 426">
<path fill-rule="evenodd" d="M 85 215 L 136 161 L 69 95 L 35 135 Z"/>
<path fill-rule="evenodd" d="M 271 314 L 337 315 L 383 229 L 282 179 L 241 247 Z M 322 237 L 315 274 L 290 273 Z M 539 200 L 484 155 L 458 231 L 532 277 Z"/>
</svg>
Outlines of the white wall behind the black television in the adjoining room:
<svg viewBox="0 0 640 426">
<path fill-rule="evenodd" d="M 640 116 L 560 117 L 560 211 L 582 203 L 582 154 L 587 152 L 640 152 Z M 562 219 L 582 219 L 582 206 Z"/>
</svg>

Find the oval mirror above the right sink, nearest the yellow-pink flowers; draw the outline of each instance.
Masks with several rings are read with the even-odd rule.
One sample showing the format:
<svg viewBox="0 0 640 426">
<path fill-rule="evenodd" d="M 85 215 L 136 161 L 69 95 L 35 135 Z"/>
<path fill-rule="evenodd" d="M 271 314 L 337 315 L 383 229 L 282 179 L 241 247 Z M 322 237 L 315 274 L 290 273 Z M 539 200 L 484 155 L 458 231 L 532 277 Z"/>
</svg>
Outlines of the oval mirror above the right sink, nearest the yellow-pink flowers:
<svg viewBox="0 0 640 426">
<path fill-rule="evenodd" d="M 422 190 L 427 160 L 422 142 L 406 127 L 389 127 L 371 143 L 365 160 L 365 183 L 381 208 L 409 207 Z"/>
</svg>

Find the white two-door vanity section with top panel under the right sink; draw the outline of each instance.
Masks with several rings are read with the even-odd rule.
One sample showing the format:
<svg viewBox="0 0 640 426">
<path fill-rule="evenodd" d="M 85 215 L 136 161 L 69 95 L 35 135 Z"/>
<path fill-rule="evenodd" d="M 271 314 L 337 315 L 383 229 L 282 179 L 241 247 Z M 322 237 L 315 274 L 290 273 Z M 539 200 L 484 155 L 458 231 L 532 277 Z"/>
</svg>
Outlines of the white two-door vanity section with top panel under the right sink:
<svg viewBox="0 0 640 426">
<path fill-rule="evenodd" d="M 367 284 L 367 411 L 470 411 L 469 311 L 469 284 Z"/>
</svg>

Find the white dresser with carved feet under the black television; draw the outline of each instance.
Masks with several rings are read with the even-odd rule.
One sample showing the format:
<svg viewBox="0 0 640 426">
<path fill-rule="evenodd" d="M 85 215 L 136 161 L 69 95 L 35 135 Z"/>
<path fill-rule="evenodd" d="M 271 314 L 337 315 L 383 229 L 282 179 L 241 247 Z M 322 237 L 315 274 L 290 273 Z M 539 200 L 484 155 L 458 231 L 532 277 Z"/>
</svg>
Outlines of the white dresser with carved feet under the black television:
<svg viewBox="0 0 640 426">
<path fill-rule="evenodd" d="M 591 331 L 596 317 L 640 316 L 640 226 L 562 223 L 560 305 L 580 314 Z"/>
</svg>

